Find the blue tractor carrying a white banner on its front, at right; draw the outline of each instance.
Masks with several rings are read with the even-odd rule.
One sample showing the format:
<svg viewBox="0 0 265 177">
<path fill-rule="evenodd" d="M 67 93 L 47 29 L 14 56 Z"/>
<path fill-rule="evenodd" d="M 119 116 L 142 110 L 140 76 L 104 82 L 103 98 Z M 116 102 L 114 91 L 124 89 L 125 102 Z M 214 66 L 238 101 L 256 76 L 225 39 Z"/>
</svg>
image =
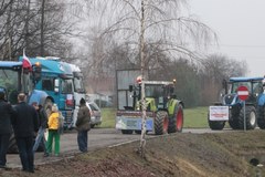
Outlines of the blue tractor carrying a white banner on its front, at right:
<svg viewBox="0 0 265 177">
<path fill-rule="evenodd" d="M 231 77 L 223 81 L 220 101 L 209 107 L 208 123 L 211 129 L 223 129 L 227 122 L 233 129 L 254 129 L 258 123 L 258 107 L 264 105 L 263 77 Z M 245 86 L 248 95 L 245 101 L 239 96 L 239 87 Z M 245 106 L 245 110 L 244 110 Z M 259 121 L 261 122 L 261 121 Z"/>
</svg>

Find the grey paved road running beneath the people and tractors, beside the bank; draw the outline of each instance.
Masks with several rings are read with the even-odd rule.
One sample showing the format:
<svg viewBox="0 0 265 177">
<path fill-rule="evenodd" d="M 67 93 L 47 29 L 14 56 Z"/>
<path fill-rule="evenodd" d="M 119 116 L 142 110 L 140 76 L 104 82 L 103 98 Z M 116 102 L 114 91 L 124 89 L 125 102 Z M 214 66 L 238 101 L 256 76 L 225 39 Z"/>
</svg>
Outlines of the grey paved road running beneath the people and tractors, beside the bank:
<svg viewBox="0 0 265 177">
<path fill-rule="evenodd" d="M 214 131 L 214 133 L 221 133 L 224 131 Z M 183 129 L 183 133 L 212 133 L 211 129 L 195 129 L 189 128 Z M 147 137 L 153 137 L 155 135 L 148 134 Z M 43 157 L 43 152 L 35 153 L 35 165 L 42 165 L 51 162 L 61 160 L 62 158 L 71 158 L 73 155 L 78 154 L 78 146 L 76 142 L 77 133 L 75 131 L 66 132 L 61 136 L 61 155 L 60 157 Z M 103 147 L 115 146 L 123 143 L 128 143 L 132 140 L 139 140 L 140 135 L 123 135 L 119 131 L 114 128 L 93 128 L 88 133 L 88 152 L 99 149 Z M 21 163 L 18 154 L 8 154 L 7 166 L 11 168 L 21 168 Z"/>
</svg>

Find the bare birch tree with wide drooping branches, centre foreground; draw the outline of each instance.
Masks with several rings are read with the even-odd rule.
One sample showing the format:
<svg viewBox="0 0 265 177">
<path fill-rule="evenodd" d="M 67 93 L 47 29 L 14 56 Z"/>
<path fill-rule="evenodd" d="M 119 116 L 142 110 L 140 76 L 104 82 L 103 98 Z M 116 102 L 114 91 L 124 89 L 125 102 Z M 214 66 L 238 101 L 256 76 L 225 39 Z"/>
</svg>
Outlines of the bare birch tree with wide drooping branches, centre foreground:
<svg viewBox="0 0 265 177">
<path fill-rule="evenodd" d="M 91 1 L 88 2 L 91 4 Z M 174 60 L 180 56 L 198 59 L 194 49 L 200 46 L 199 42 L 206 43 L 208 40 L 216 39 L 215 33 L 205 24 L 190 15 L 182 15 L 181 10 L 187 6 L 186 0 L 102 0 L 94 4 L 103 7 L 99 13 L 100 23 L 97 22 L 97 27 L 104 30 L 99 31 L 98 38 L 104 39 L 106 35 L 112 35 L 116 43 L 121 44 L 129 41 L 131 50 L 138 49 L 137 63 L 140 64 L 144 80 L 148 79 L 148 61 L 153 61 L 153 59 L 147 59 L 152 56 L 146 53 L 148 41 L 158 44 L 163 54 L 167 53 L 171 60 Z M 102 18 L 104 15 L 107 18 Z M 197 45 L 192 46 L 191 43 Z M 149 46 L 155 45 L 150 44 Z M 97 60 L 95 63 L 104 63 L 106 58 L 102 58 L 102 54 L 98 56 L 94 59 Z M 157 59 L 159 63 L 162 63 L 162 60 Z M 145 122 L 144 100 L 145 95 L 142 94 L 142 119 Z M 145 136 L 145 131 L 142 131 L 142 136 Z"/>
</svg>

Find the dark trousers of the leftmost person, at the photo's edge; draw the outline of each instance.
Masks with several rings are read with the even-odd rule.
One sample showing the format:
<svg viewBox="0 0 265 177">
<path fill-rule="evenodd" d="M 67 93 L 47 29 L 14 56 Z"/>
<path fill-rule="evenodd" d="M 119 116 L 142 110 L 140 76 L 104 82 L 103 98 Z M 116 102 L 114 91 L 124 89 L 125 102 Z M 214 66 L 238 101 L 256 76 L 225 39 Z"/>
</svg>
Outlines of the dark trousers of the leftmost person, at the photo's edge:
<svg viewBox="0 0 265 177">
<path fill-rule="evenodd" d="M 6 166 L 7 163 L 7 153 L 9 147 L 9 138 L 11 134 L 0 135 L 0 166 Z"/>
</svg>

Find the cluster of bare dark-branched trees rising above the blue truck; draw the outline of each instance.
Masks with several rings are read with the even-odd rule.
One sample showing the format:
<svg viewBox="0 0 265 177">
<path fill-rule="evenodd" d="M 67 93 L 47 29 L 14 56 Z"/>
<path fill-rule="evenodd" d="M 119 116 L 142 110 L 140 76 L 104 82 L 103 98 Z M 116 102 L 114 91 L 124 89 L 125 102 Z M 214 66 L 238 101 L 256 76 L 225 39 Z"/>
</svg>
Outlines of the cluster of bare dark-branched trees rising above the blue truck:
<svg viewBox="0 0 265 177">
<path fill-rule="evenodd" d="M 0 55 L 3 60 L 18 60 L 23 49 L 32 56 L 68 56 L 72 44 L 67 37 L 73 35 L 73 22 L 65 15 L 63 0 L 9 0 L 0 6 Z"/>
</svg>

